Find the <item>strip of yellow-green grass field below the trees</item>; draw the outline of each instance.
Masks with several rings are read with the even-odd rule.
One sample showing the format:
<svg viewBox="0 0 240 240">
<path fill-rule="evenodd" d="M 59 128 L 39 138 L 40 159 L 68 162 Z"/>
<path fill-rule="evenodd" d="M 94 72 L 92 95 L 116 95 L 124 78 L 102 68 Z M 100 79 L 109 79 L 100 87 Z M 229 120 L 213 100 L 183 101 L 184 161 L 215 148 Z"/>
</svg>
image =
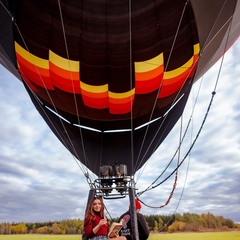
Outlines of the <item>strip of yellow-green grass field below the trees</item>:
<svg viewBox="0 0 240 240">
<path fill-rule="evenodd" d="M 81 240 L 80 235 L 0 235 L 0 240 Z M 239 240 L 240 231 L 151 234 L 149 240 Z"/>
</svg>

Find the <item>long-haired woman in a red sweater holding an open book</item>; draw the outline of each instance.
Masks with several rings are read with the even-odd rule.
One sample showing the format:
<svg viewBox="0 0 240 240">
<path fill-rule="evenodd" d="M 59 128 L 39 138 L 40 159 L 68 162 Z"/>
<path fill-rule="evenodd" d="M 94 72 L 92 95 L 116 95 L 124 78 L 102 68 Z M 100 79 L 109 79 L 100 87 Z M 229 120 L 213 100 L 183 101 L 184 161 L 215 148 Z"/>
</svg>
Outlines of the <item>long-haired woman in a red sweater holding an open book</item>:
<svg viewBox="0 0 240 240">
<path fill-rule="evenodd" d="M 108 240 L 109 224 L 104 216 L 102 198 L 91 199 L 84 219 L 84 233 L 91 240 Z M 111 240 L 126 240 L 125 237 L 111 238 Z"/>
</svg>

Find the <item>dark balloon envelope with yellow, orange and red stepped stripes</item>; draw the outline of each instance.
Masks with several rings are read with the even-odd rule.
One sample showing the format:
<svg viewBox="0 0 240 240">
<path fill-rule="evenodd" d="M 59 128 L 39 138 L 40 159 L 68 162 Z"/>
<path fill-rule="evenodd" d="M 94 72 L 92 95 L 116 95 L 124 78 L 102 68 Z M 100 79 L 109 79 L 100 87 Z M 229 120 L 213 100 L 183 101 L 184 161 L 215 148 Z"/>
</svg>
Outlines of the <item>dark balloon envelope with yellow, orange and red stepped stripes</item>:
<svg viewBox="0 0 240 240">
<path fill-rule="evenodd" d="M 0 63 L 88 169 L 134 176 L 238 38 L 239 16 L 238 0 L 5 0 Z"/>
</svg>

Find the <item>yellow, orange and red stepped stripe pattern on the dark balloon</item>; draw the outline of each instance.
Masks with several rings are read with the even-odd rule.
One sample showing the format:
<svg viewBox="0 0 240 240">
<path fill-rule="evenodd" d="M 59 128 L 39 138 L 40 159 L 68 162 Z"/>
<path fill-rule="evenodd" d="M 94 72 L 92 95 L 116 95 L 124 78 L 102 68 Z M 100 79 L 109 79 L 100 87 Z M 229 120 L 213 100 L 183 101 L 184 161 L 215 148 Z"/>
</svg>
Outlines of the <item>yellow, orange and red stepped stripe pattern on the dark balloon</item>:
<svg viewBox="0 0 240 240">
<path fill-rule="evenodd" d="M 82 94 L 86 106 L 96 109 L 109 108 L 111 114 L 125 114 L 132 110 L 135 94 L 147 94 L 158 90 L 158 98 L 178 92 L 187 78 L 191 78 L 197 66 L 199 44 L 193 46 L 194 55 L 184 65 L 164 71 L 163 53 L 144 62 L 135 62 L 135 88 L 128 92 L 109 91 L 108 84 L 89 85 L 80 80 L 80 62 L 72 61 L 49 51 L 49 59 L 39 58 L 15 42 L 19 71 L 24 79 L 48 90 Z M 32 85 L 31 85 L 32 86 Z M 33 88 L 32 90 L 35 90 Z M 37 92 L 36 92 L 37 93 Z M 96 101 L 97 100 L 97 101 Z"/>
</svg>

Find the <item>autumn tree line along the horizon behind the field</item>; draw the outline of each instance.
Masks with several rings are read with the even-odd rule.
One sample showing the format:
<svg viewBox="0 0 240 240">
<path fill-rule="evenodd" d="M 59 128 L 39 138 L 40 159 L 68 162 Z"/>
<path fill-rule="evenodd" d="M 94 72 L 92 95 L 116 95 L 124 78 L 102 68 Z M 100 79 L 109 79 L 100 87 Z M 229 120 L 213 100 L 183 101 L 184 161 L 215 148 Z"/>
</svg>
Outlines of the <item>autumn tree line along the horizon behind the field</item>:
<svg viewBox="0 0 240 240">
<path fill-rule="evenodd" d="M 179 232 L 179 231 L 228 231 L 240 229 L 240 224 L 222 216 L 211 213 L 201 215 L 184 213 L 175 215 L 145 215 L 151 232 Z M 118 218 L 111 219 L 117 222 Z M 82 234 L 83 220 L 65 219 L 61 221 L 36 223 L 9 223 L 0 224 L 0 234 Z"/>
</svg>

